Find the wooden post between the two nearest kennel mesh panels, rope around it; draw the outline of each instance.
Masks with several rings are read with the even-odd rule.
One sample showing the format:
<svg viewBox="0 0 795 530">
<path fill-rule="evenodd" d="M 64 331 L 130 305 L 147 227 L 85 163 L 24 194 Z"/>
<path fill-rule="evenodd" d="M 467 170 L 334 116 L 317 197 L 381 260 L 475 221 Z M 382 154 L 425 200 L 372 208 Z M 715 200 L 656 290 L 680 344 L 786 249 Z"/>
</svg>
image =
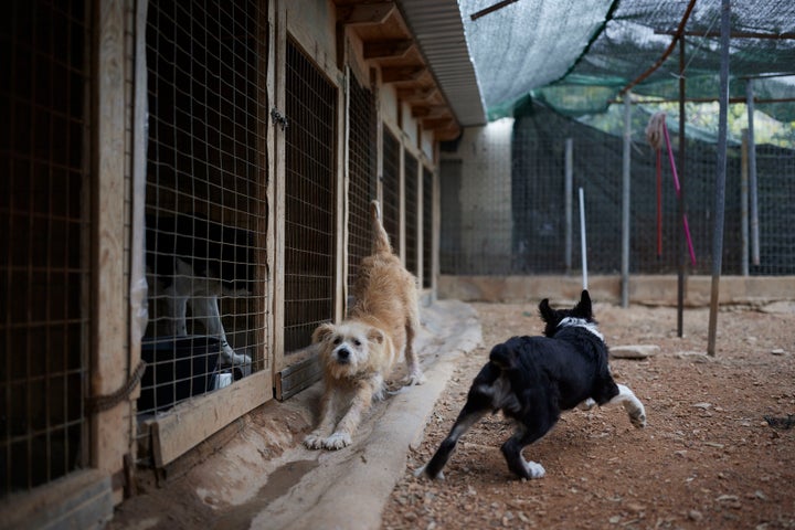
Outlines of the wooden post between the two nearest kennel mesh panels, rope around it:
<svg viewBox="0 0 795 530">
<path fill-rule="evenodd" d="M 92 340 L 91 393 L 107 395 L 124 386 L 129 365 L 125 278 L 125 165 L 126 125 L 129 109 L 125 97 L 128 64 L 125 57 L 125 2 L 97 3 L 95 43 L 95 106 L 93 110 L 95 183 L 92 193 Z M 130 415 L 127 400 L 92 418 L 92 465 L 114 475 L 123 469 L 130 447 Z M 120 484 L 119 484 L 120 486 Z M 120 489 L 114 501 L 121 501 Z"/>
</svg>

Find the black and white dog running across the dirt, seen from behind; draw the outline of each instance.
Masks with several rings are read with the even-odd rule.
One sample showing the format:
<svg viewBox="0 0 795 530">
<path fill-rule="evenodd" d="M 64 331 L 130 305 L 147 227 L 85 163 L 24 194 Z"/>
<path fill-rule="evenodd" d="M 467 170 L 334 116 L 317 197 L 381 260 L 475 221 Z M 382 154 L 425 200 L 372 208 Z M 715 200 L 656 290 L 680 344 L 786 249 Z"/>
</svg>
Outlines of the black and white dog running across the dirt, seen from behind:
<svg viewBox="0 0 795 530">
<path fill-rule="evenodd" d="M 444 478 L 442 468 L 458 438 L 489 412 L 502 411 L 516 420 L 518 428 L 502 444 L 502 455 L 512 473 L 528 479 L 545 471 L 541 464 L 526 462 L 521 452 L 547 434 L 562 411 L 622 403 L 633 425 L 646 426 L 643 403 L 611 375 L 607 346 L 596 329 L 587 290 L 573 309 L 552 309 L 548 299 L 539 309 L 547 324 L 544 337 L 513 337 L 491 349 L 453 428 L 417 476 Z"/>
</svg>

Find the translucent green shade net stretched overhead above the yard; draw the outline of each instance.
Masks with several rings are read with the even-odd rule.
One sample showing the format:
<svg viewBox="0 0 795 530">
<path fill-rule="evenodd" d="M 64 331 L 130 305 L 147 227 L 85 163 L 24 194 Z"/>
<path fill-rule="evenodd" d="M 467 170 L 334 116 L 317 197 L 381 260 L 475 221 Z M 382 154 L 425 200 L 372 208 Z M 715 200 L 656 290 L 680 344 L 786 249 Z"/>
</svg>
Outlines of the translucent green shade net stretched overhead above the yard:
<svg viewBox="0 0 795 530">
<path fill-rule="evenodd" d="M 561 114 L 603 113 L 619 91 L 655 64 L 670 45 L 687 0 L 518 0 L 477 20 L 495 0 L 460 0 L 478 83 L 489 118 L 526 108 L 532 98 Z M 698 0 L 686 31 L 688 99 L 716 99 L 720 68 L 720 0 Z M 730 96 L 795 98 L 795 1 L 732 2 Z M 763 39 L 772 35 L 775 39 Z M 780 38 L 780 36 L 785 38 Z M 679 97 L 679 49 L 643 83 L 636 96 Z M 780 121 L 795 121 L 795 102 L 760 103 Z"/>
</svg>

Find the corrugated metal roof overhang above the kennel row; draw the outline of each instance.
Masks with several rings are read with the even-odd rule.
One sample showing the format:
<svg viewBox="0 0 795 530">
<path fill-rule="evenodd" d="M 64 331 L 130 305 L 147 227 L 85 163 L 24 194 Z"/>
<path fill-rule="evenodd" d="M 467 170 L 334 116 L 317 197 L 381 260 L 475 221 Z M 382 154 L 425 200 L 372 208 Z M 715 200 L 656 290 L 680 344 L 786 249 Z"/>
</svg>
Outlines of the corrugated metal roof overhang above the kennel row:
<svg viewBox="0 0 795 530">
<path fill-rule="evenodd" d="M 398 6 L 462 127 L 486 124 L 486 110 L 456 0 Z"/>
</svg>

